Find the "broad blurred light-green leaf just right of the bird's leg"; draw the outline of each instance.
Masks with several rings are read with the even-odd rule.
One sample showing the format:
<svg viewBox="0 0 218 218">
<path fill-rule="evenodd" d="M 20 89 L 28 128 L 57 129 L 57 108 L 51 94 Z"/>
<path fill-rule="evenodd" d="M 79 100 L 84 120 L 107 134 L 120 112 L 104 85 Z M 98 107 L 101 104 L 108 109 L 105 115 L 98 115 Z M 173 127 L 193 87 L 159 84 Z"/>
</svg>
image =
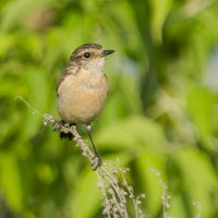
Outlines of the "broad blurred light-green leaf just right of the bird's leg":
<svg viewBox="0 0 218 218">
<path fill-rule="evenodd" d="M 134 154 L 159 150 L 167 143 L 160 126 L 143 116 L 132 116 L 97 132 L 95 140 L 107 149 L 128 148 Z"/>
</svg>

